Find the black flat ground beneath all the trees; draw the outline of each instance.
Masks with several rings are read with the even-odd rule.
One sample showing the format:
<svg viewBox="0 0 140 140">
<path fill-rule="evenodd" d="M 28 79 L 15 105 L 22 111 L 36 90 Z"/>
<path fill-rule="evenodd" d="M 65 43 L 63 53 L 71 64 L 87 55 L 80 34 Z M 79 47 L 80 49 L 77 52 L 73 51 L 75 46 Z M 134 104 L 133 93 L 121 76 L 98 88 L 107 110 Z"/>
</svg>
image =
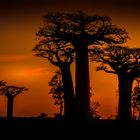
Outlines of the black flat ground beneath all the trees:
<svg viewBox="0 0 140 140">
<path fill-rule="evenodd" d="M 63 118 L 0 118 L 1 137 L 20 139 L 116 139 L 140 135 L 140 121 L 123 124 L 116 120 L 92 120 L 90 126 L 65 122 Z M 91 138 L 90 138 L 91 137 Z"/>
</svg>

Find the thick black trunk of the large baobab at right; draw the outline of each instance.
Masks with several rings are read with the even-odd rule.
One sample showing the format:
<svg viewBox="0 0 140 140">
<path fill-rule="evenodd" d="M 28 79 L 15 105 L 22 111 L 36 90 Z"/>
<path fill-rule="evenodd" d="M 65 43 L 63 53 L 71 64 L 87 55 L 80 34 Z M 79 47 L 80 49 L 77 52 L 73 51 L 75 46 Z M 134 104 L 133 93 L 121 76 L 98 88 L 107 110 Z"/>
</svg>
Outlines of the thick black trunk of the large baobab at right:
<svg viewBox="0 0 140 140">
<path fill-rule="evenodd" d="M 131 120 L 131 91 L 133 79 L 118 76 L 119 80 L 119 106 L 118 119 L 123 122 Z"/>
</svg>

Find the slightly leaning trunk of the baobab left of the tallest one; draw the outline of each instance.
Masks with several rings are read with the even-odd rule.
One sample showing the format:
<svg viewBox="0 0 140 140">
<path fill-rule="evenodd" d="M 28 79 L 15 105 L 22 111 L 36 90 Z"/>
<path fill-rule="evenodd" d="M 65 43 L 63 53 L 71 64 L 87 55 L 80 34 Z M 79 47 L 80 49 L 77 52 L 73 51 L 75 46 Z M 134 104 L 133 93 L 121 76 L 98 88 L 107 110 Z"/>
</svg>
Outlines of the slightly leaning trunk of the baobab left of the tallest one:
<svg viewBox="0 0 140 140">
<path fill-rule="evenodd" d="M 62 65 L 61 67 L 63 86 L 64 86 L 64 115 L 66 119 L 73 117 L 74 113 L 74 89 L 70 64 Z"/>
</svg>

